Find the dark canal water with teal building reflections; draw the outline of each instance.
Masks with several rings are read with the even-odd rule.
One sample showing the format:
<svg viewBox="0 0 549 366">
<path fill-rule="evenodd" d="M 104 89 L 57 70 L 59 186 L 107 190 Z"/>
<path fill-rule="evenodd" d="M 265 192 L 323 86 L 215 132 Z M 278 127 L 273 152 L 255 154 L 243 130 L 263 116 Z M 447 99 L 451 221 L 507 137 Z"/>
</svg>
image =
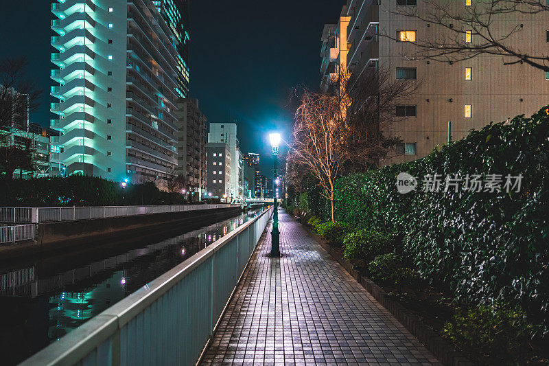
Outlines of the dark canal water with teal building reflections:
<svg viewBox="0 0 549 366">
<path fill-rule="evenodd" d="M 0 270 L 0 363 L 32 356 L 260 213 L 169 238 L 97 243 Z"/>
</svg>

